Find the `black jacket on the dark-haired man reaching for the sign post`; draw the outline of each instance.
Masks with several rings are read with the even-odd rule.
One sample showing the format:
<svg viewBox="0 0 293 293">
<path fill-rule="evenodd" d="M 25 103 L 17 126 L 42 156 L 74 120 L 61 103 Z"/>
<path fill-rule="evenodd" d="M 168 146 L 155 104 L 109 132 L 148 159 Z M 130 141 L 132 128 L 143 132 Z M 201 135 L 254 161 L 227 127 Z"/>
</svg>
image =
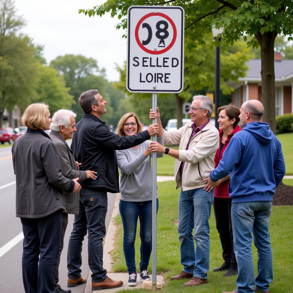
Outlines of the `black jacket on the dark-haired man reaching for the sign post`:
<svg viewBox="0 0 293 293">
<path fill-rule="evenodd" d="M 119 173 L 115 150 L 129 149 L 150 139 L 147 130 L 123 137 L 110 131 L 95 115 L 84 113 L 76 124 L 71 149 L 76 161 L 82 163 L 79 170 L 96 171 L 97 178 L 80 182 L 83 188 L 99 188 L 110 193 L 119 192 Z"/>
</svg>

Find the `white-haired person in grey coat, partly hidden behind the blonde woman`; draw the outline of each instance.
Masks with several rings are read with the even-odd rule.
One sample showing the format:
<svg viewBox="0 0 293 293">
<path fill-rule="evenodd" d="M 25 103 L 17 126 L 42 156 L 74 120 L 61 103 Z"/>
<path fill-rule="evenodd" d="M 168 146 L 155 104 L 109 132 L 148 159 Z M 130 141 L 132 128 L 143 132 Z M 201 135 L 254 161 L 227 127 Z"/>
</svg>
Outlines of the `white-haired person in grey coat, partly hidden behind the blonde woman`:
<svg viewBox="0 0 293 293">
<path fill-rule="evenodd" d="M 69 148 L 66 143 L 66 139 L 72 138 L 73 132 L 76 131 L 75 128 L 75 117 L 76 114 L 71 110 L 61 109 L 54 113 L 52 117 L 52 123 L 50 125 L 51 132 L 49 134 L 52 139 L 59 156 L 59 161 L 62 168 L 62 175 L 72 179 L 79 177 L 79 181 L 86 180 L 87 178 L 95 179 L 97 178 L 95 174 L 97 172 L 94 171 L 80 171 L 79 166 L 81 163 L 75 161 L 73 157 L 73 152 Z M 62 235 L 61 235 L 61 243 L 59 250 L 59 258 L 57 263 L 57 271 L 54 282 L 54 289 L 56 293 L 70 293 L 71 290 L 63 290 L 61 286 L 58 284 L 59 282 L 59 263 L 60 256 L 64 245 L 64 234 L 68 224 L 68 214 L 79 214 L 79 192 L 78 193 L 66 193 L 63 192 L 65 197 L 65 207 L 66 212 L 62 213 Z M 86 280 L 84 279 L 84 282 Z"/>
</svg>

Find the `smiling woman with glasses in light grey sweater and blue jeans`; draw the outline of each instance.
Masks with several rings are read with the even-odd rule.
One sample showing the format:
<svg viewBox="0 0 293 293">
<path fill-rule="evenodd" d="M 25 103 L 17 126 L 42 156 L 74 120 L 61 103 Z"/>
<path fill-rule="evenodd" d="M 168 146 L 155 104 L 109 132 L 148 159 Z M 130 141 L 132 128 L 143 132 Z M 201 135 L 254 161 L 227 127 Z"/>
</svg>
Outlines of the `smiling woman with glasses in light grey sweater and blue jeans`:
<svg viewBox="0 0 293 293">
<path fill-rule="evenodd" d="M 142 125 L 135 113 L 126 113 L 117 125 L 117 134 L 121 136 L 135 135 L 142 131 Z M 163 145 L 163 139 L 158 138 Z M 137 285 L 134 242 L 137 219 L 140 223 L 140 263 L 139 277 L 144 282 L 150 276 L 147 272 L 151 256 L 151 210 L 152 190 L 151 149 L 150 141 L 145 141 L 135 147 L 116 151 L 117 164 L 121 172 L 119 210 L 122 218 L 124 236 L 123 251 L 129 273 L 128 286 Z M 163 154 L 157 154 L 162 157 Z M 159 207 L 157 194 L 157 211 Z"/>
</svg>

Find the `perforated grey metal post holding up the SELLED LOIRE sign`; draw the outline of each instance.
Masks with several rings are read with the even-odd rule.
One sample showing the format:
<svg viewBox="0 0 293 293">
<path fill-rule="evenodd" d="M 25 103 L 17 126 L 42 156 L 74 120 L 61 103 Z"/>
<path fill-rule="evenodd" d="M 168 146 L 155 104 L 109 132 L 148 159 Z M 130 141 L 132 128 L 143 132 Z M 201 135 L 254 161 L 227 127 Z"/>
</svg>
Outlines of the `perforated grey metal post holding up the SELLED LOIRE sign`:
<svg viewBox="0 0 293 293">
<path fill-rule="evenodd" d="M 156 112 L 157 109 L 157 94 L 153 93 L 153 110 Z M 157 123 L 157 118 L 152 120 L 153 124 Z M 157 135 L 153 136 L 153 142 L 157 141 Z M 152 290 L 157 289 L 157 153 L 151 153 L 153 159 L 153 192 L 152 192 L 152 240 L 151 247 L 153 251 L 152 257 Z"/>
</svg>

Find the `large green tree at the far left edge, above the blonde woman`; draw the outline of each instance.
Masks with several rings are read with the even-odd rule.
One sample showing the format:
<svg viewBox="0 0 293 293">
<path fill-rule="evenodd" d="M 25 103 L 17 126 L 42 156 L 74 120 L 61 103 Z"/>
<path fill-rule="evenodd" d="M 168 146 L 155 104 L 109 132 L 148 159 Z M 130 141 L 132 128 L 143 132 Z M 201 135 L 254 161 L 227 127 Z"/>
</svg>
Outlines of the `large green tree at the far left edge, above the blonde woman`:
<svg viewBox="0 0 293 293">
<path fill-rule="evenodd" d="M 38 64 L 28 37 L 17 36 L 24 21 L 16 16 L 13 2 L 0 1 L 0 127 L 4 109 L 27 105 L 35 95 Z"/>
</svg>

